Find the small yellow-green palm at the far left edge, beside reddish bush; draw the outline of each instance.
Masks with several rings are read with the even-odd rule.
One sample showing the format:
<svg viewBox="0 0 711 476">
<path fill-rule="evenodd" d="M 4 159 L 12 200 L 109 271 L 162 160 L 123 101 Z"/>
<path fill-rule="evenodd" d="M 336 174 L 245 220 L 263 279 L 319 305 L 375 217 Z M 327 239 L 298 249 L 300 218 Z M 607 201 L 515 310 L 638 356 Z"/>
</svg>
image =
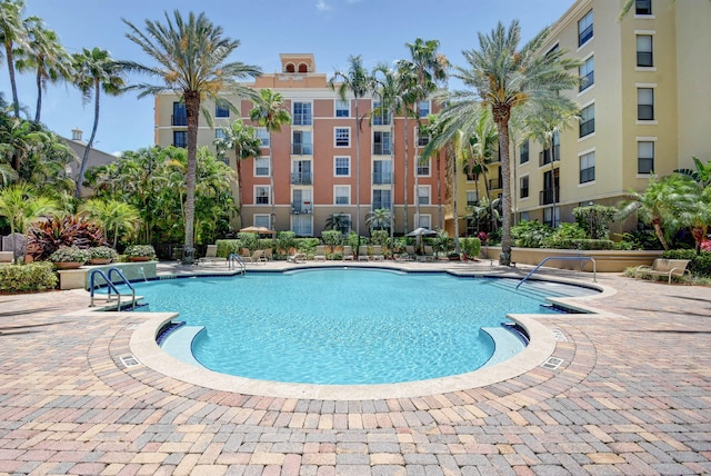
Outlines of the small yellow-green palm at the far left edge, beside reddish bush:
<svg viewBox="0 0 711 476">
<path fill-rule="evenodd" d="M 13 185 L 0 190 L 0 216 L 8 218 L 11 236 L 14 236 L 16 231 L 24 234 L 29 224 L 58 208 L 57 201 L 44 196 L 36 196 L 27 184 Z M 12 251 L 13 262 L 17 264 L 14 238 Z"/>
</svg>

